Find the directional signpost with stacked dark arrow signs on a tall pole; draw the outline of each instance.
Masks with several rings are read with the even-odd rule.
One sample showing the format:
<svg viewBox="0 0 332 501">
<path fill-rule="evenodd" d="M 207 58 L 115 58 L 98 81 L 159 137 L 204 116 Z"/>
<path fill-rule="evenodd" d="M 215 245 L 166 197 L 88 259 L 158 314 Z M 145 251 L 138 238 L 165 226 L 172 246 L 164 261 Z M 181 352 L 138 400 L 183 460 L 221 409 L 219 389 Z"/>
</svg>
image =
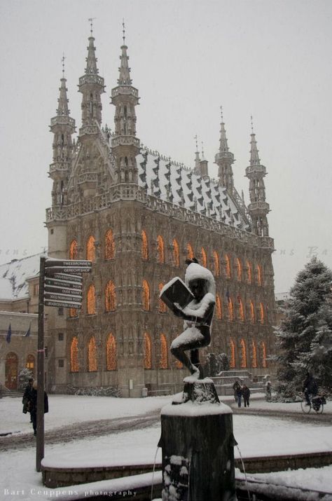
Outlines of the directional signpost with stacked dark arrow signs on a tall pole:
<svg viewBox="0 0 332 501">
<path fill-rule="evenodd" d="M 91 268 L 91 261 L 41 257 L 37 348 L 37 472 L 41 471 L 41 460 L 44 457 L 44 306 L 80 309 L 83 298 L 81 273 L 89 273 Z"/>
</svg>

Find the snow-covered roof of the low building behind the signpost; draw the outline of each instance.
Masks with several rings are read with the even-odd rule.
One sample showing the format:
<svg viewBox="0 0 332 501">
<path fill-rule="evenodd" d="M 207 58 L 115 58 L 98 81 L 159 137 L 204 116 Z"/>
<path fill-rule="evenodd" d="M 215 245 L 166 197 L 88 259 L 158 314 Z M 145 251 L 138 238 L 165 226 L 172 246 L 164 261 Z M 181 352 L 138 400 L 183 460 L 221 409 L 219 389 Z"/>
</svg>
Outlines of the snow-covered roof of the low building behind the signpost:
<svg viewBox="0 0 332 501">
<path fill-rule="evenodd" d="M 27 279 L 38 275 L 40 258 L 44 254 L 34 254 L 23 259 L 12 259 L 0 265 L 0 298 L 18 299 L 27 296 Z"/>
</svg>

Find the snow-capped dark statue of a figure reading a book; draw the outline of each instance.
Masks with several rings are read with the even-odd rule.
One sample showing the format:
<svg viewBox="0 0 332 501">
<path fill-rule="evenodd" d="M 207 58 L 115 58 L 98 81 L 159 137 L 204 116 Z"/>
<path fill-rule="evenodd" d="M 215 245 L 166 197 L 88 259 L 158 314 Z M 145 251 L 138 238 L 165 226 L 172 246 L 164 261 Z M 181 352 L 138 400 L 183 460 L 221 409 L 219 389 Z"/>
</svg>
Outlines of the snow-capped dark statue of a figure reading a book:
<svg viewBox="0 0 332 501">
<path fill-rule="evenodd" d="M 189 369 L 193 378 L 202 379 L 198 349 L 211 341 L 216 286 L 211 271 L 195 259 L 186 263 L 185 281 L 174 277 L 162 288 L 160 298 L 174 315 L 184 319 L 184 332 L 172 342 L 172 355 Z M 190 357 L 186 351 L 190 351 Z"/>
</svg>

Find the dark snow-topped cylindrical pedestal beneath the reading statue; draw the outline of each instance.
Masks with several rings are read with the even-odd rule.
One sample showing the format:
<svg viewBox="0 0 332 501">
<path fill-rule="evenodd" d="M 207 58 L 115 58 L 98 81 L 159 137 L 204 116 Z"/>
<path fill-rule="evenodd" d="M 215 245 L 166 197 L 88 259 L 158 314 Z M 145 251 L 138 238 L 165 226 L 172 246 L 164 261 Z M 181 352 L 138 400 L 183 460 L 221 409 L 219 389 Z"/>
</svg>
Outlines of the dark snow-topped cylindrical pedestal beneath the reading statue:
<svg viewBox="0 0 332 501">
<path fill-rule="evenodd" d="M 211 380 L 186 378 L 182 403 L 161 411 L 159 445 L 162 501 L 236 500 L 232 411 Z"/>
</svg>

